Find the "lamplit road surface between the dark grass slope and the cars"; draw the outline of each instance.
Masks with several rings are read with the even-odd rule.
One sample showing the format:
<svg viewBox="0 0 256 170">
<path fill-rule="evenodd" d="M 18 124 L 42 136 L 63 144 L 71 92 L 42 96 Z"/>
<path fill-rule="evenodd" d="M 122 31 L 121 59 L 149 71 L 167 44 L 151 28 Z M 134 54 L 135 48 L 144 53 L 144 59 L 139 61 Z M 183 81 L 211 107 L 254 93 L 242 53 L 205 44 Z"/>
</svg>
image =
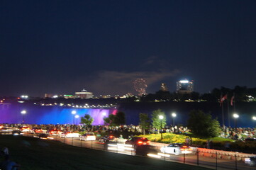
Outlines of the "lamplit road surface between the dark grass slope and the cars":
<svg viewBox="0 0 256 170">
<path fill-rule="evenodd" d="M 84 141 L 84 140 L 79 140 L 78 138 L 61 138 L 57 136 L 52 136 L 53 140 L 59 140 L 60 142 L 63 142 L 67 145 L 73 145 L 76 147 L 87 147 L 91 149 L 99 149 L 99 150 L 105 150 L 108 152 L 114 152 L 117 154 L 128 154 L 128 155 L 135 155 L 135 150 L 126 147 L 124 148 L 123 144 L 118 144 L 118 143 L 111 143 L 111 145 L 104 145 L 100 142 L 97 141 Z M 160 152 L 160 151 L 159 151 Z M 185 161 L 184 161 L 185 157 Z M 245 164 L 243 161 L 237 161 L 237 164 L 235 165 L 235 160 L 233 159 L 216 159 L 216 157 L 203 157 L 200 155 L 196 154 L 182 154 L 182 155 L 172 155 L 172 154 L 166 154 L 166 157 L 161 157 L 158 159 L 162 159 L 165 161 L 170 161 L 170 162 L 179 162 L 179 163 L 184 163 L 185 164 L 192 164 L 192 165 L 197 165 L 199 166 L 204 166 L 207 168 L 211 169 L 220 169 L 220 170 L 225 170 L 225 169 L 238 169 L 238 170 L 252 170 L 255 169 L 255 166 L 248 166 Z M 197 161 L 199 159 L 199 161 Z M 217 164 L 216 164 L 217 162 Z"/>
</svg>

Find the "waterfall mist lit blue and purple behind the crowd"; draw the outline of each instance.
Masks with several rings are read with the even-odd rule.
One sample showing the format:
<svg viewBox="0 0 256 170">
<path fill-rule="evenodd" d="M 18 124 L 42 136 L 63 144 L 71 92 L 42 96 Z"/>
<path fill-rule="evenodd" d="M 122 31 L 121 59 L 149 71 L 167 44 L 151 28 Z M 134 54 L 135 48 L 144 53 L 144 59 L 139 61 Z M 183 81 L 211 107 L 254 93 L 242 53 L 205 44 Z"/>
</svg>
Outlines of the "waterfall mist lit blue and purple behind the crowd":
<svg viewBox="0 0 256 170">
<path fill-rule="evenodd" d="M 21 111 L 26 110 L 22 115 Z M 72 114 L 76 111 L 76 114 Z M 116 109 L 91 109 L 91 108 L 63 108 L 60 106 L 25 106 L 25 105 L 0 105 L 0 123 L 28 124 L 75 124 L 80 123 L 80 118 L 85 114 L 94 118 L 93 125 L 104 125 L 104 117 L 116 114 Z M 79 118 L 74 118 L 78 115 Z"/>
</svg>

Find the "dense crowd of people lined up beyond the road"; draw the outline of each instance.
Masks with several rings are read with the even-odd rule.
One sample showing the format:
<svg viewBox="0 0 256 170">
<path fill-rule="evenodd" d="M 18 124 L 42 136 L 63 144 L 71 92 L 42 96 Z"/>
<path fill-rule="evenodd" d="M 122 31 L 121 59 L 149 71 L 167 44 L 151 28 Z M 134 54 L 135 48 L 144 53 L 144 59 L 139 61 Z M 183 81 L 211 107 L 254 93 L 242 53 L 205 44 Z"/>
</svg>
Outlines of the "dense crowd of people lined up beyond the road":
<svg viewBox="0 0 256 170">
<path fill-rule="evenodd" d="M 140 125 L 119 125 L 119 126 L 108 126 L 108 125 L 70 125 L 70 124 L 48 124 L 48 125 L 26 125 L 26 124 L 0 124 L 1 127 L 10 127 L 10 128 L 22 128 L 28 127 L 30 130 L 43 129 L 47 132 L 50 130 L 61 130 L 62 132 L 82 132 L 82 131 L 93 131 L 93 132 L 106 132 L 111 131 L 115 132 L 134 132 L 135 134 L 143 133 L 143 128 Z M 147 134 L 158 133 L 161 130 L 157 128 L 149 128 L 146 130 Z M 190 132 L 189 128 L 185 126 L 177 125 L 165 125 L 165 128 L 162 129 L 162 132 L 173 132 L 176 134 L 187 134 Z M 256 128 L 228 128 L 221 127 L 220 137 L 229 138 L 233 140 L 244 140 L 247 137 L 256 137 Z"/>
</svg>

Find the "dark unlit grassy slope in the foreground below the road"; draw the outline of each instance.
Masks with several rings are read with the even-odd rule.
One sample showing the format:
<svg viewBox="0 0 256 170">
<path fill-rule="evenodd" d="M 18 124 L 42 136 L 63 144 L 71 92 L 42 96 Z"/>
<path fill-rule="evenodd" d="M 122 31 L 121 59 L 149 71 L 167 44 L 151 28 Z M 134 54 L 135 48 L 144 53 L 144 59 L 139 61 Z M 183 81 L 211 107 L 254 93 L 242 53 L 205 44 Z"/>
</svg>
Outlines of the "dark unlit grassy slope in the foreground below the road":
<svg viewBox="0 0 256 170">
<path fill-rule="evenodd" d="M 72 147 L 61 142 L 0 135 L 0 148 L 8 147 L 11 159 L 22 169 L 205 169 L 145 157 Z"/>
</svg>

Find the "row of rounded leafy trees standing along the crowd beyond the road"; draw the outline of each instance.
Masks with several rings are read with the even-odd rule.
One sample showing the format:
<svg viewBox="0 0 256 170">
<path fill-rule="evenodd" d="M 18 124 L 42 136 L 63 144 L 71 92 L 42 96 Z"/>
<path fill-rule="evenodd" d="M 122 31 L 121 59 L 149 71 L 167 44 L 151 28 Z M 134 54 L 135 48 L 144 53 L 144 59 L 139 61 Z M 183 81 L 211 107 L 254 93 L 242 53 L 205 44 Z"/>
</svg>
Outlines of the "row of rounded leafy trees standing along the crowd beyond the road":
<svg viewBox="0 0 256 170">
<path fill-rule="evenodd" d="M 143 135 L 145 135 L 146 130 L 151 128 L 155 128 L 159 133 L 160 130 L 165 129 L 165 126 L 167 125 L 165 112 L 161 109 L 152 111 L 151 118 L 146 113 L 140 113 L 139 117 L 139 124 L 140 128 L 143 129 Z M 87 127 L 91 126 L 93 121 L 94 119 L 88 114 L 81 118 L 81 123 L 87 125 Z M 125 113 L 119 111 L 115 115 L 108 115 L 108 117 L 104 118 L 104 124 L 109 126 L 125 125 Z M 187 127 L 197 137 L 216 137 L 221 132 L 218 120 L 212 118 L 211 114 L 199 110 L 193 110 L 189 113 Z"/>
</svg>

